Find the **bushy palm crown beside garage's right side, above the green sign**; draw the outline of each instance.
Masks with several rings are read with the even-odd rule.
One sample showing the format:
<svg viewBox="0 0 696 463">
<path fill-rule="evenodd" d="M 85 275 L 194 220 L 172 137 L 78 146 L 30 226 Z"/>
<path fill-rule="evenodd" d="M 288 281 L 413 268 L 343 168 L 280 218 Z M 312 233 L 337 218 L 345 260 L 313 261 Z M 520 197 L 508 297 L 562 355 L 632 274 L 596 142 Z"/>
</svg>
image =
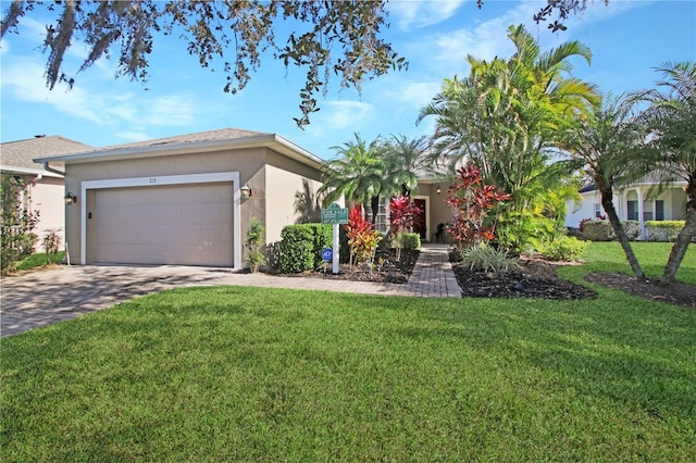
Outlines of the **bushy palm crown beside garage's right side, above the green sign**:
<svg viewBox="0 0 696 463">
<path fill-rule="evenodd" d="M 384 182 L 384 162 L 377 157 L 378 143 L 368 145 L 360 135 L 343 146 L 332 147 L 337 157 L 325 165 L 322 180 L 324 185 L 318 195 L 325 195 L 323 204 L 345 197 L 352 205 L 368 204 L 378 196 Z"/>
</svg>

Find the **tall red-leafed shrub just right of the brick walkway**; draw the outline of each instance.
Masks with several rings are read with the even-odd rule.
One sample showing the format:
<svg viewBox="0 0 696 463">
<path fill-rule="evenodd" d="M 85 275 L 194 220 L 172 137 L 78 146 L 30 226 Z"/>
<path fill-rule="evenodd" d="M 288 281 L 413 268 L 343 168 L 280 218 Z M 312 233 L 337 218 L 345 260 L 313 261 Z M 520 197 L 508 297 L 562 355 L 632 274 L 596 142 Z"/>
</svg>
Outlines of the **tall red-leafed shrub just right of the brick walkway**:
<svg viewBox="0 0 696 463">
<path fill-rule="evenodd" d="M 453 216 L 447 232 L 459 248 L 471 247 L 495 238 L 495 226 L 486 223 L 488 211 L 500 201 L 510 198 L 495 185 L 484 185 L 481 170 L 475 165 L 461 167 L 449 187 L 445 202 L 452 208 Z"/>
</svg>

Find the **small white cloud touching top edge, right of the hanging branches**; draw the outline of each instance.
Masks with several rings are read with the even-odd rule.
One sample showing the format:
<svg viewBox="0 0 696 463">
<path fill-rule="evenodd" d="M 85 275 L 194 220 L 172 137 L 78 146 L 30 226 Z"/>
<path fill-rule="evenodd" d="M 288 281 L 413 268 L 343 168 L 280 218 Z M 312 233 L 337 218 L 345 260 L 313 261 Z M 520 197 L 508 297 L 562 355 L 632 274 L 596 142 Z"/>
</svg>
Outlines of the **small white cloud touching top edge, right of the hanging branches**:
<svg viewBox="0 0 696 463">
<path fill-rule="evenodd" d="M 387 3 L 391 17 L 396 17 L 399 27 L 409 30 L 432 26 L 452 17 L 459 7 L 468 0 L 394 0 Z"/>
</svg>

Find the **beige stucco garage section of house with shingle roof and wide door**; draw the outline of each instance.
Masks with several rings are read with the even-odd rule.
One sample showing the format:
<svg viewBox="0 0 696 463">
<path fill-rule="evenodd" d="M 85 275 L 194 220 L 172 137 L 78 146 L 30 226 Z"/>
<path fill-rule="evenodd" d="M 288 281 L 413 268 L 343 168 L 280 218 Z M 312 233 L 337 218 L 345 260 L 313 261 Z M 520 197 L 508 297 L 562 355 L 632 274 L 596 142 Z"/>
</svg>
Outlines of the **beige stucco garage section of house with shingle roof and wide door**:
<svg viewBox="0 0 696 463">
<path fill-rule="evenodd" d="M 276 134 L 225 128 L 38 158 L 64 166 L 73 264 L 243 268 L 249 221 L 277 242 L 315 193 L 321 159 Z M 250 197 L 245 198 L 245 191 Z"/>
</svg>

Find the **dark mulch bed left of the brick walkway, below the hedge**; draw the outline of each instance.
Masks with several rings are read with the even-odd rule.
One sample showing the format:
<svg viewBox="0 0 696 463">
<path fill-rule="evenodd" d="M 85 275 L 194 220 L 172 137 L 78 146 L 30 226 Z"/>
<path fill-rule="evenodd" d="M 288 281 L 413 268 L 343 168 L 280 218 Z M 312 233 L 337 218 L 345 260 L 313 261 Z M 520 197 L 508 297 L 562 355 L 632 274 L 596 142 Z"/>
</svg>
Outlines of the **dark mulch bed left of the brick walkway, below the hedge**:
<svg viewBox="0 0 696 463">
<path fill-rule="evenodd" d="M 394 250 L 377 251 L 374 260 L 375 264 L 372 268 L 364 263 L 353 265 L 352 268 L 349 264 L 340 264 L 338 267 L 338 274 L 334 275 L 332 273 L 332 264 L 330 262 L 325 265 L 325 268 L 288 276 L 312 276 L 318 278 L 347 279 L 352 281 L 405 284 L 413 272 L 420 251 L 403 250 L 401 251 L 401 259 L 397 261 Z"/>
</svg>

